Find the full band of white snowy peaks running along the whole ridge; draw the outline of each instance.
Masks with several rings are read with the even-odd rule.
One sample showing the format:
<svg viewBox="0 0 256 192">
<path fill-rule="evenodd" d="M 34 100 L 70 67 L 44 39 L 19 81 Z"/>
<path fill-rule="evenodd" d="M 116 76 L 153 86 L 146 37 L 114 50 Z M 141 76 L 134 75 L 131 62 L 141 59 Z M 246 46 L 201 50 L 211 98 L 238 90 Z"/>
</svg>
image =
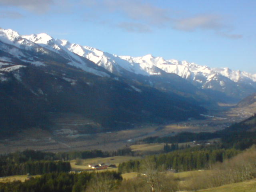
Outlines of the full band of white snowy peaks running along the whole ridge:
<svg viewBox="0 0 256 192">
<path fill-rule="evenodd" d="M 13 45 L 29 45 L 30 48 L 39 46 L 37 50 L 40 50 L 41 47 L 56 52 L 70 60 L 68 64 L 100 76 L 108 76 L 108 74 L 105 72 L 99 73 L 95 67 L 88 67 L 86 64 L 81 64 L 83 63 L 81 57 L 94 62 L 98 66 L 118 76 L 134 78 L 131 77 L 133 74 L 142 75 L 148 78 L 148 84 L 150 86 L 162 90 L 168 90 L 168 88 L 162 85 L 159 86 L 159 81 L 158 87 L 156 87 L 156 82 L 151 81 L 150 77 L 156 78 L 168 74 L 177 74 L 199 89 L 203 89 L 206 92 L 208 90 L 214 90 L 234 99 L 242 99 L 256 92 L 256 74 L 233 71 L 229 68 L 210 68 L 186 61 L 165 60 L 162 57 L 154 57 L 150 54 L 142 57 L 117 56 L 96 48 L 72 44 L 67 40 L 54 39 L 44 33 L 20 36 L 12 30 L 5 30 L 2 37 L 5 38 L 5 41 L 7 38 Z M 167 80 L 167 82 L 172 82 L 174 76 L 170 78 L 170 81 Z"/>
</svg>

